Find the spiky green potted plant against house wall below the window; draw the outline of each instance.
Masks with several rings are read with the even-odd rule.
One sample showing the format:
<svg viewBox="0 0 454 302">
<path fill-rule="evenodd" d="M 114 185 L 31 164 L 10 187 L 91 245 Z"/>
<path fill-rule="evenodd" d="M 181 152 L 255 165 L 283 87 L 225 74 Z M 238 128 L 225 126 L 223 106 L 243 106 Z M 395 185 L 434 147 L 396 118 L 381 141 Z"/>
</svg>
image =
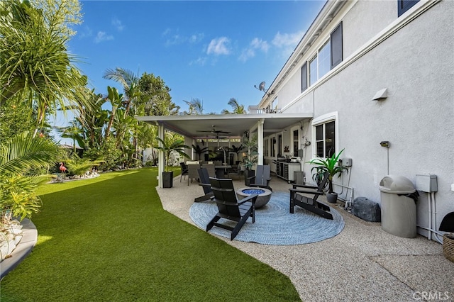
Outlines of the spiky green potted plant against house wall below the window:
<svg viewBox="0 0 454 302">
<path fill-rule="evenodd" d="M 339 157 L 341 156 L 341 152 L 339 152 L 337 155 L 336 153 L 333 153 L 331 157 L 327 157 L 326 159 L 321 159 L 321 158 L 316 158 L 315 160 L 311 160 L 308 162 L 309 164 L 315 164 L 316 166 L 311 169 L 311 172 L 316 169 L 316 173 L 314 174 L 314 177 L 316 179 L 317 184 L 319 184 L 320 177 L 323 178 L 323 174 L 328 173 L 328 194 L 326 194 L 326 199 L 330 203 L 336 203 L 338 199 L 338 194 L 336 192 L 333 192 L 333 177 L 336 174 L 341 174 L 343 170 L 347 169 L 346 167 L 338 166 L 338 160 Z"/>
</svg>

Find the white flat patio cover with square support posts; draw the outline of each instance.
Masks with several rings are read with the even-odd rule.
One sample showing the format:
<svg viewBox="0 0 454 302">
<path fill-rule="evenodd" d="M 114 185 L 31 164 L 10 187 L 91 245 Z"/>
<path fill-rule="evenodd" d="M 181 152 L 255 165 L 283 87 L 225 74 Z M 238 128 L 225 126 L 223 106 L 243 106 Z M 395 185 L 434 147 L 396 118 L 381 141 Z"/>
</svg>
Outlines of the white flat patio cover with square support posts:
<svg viewBox="0 0 454 302">
<path fill-rule="evenodd" d="M 258 133 L 259 162 L 263 164 L 263 137 L 272 133 L 278 133 L 291 125 L 297 125 L 308 118 L 313 118 L 313 113 L 259 113 L 259 114 L 213 114 L 191 116 L 137 116 L 138 121 L 144 121 L 157 125 L 158 135 L 164 138 L 164 130 L 179 133 L 187 138 L 206 138 L 206 133 L 200 130 L 229 131 L 223 137 L 240 138 L 246 131 Z M 159 152 L 158 175 L 164 171 L 164 155 Z M 160 177 L 159 177 L 160 179 Z M 162 187 L 161 179 L 159 181 Z"/>
</svg>

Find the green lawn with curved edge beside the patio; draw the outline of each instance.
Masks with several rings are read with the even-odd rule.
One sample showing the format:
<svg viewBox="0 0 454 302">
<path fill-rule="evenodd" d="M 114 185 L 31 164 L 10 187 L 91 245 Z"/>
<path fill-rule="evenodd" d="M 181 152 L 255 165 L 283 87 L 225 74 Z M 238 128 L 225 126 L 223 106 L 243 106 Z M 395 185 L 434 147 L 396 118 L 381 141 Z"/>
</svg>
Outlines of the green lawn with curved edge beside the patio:
<svg viewBox="0 0 454 302">
<path fill-rule="evenodd" d="M 43 186 L 38 244 L 1 301 L 299 301 L 287 276 L 164 211 L 156 175 Z"/>
</svg>

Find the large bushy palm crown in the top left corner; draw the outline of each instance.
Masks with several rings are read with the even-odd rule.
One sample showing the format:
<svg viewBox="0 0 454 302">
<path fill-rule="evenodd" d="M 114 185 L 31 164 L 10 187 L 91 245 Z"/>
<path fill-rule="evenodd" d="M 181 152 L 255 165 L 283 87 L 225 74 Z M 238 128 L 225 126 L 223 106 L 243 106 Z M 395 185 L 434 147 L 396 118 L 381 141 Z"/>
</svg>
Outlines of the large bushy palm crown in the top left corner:
<svg viewBox="0 0 454 302">
<path fill-rule="evenodd" d="M 79 10 L 77 0 L 39 1 L 39 8 L 30 1 L 0 3 L 0 106 L 25 102 L 36 108 L 34 135 L 57 107 L 91 106 L 82 94 L 87 77 L 67 51 Z"/>
</svg>

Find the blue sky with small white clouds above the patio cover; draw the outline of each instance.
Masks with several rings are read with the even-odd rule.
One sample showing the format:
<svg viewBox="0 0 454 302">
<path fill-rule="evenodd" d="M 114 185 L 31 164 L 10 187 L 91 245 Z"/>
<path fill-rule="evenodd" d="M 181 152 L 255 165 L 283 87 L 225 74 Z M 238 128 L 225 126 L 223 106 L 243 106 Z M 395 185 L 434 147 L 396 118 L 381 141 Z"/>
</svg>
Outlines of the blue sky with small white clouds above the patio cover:
<svg viewBox="0 0 454 302">
<path fill-rule="evenodd" d="M 256 105 L 325 1 L 81 1 L 83 23 L 68 49 L 96 93 L 121 86 L 102 75 L 122 67 L 153 73 L 172 101 Z"/>
</svg>

